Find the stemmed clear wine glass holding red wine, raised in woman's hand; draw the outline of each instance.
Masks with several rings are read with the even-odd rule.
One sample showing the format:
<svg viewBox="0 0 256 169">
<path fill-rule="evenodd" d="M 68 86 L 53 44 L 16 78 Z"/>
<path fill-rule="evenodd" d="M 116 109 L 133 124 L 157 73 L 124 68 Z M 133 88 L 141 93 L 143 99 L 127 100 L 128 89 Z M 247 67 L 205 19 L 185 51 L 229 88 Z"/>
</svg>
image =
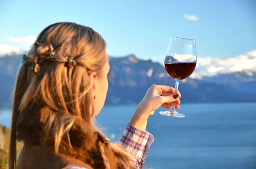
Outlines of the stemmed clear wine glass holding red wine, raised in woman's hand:
<svg viewBox="0 0 256 169">
<path fill-rule="evenodd" d="M 166 51 L 164 66 L 166 72 L 175 79 L 175 89 L 178 89 L 180 80 L 189 77 L 196 66 L 196 40 L 180 37 L 171 37 Z M 175 102 L 172 109 L 160 112 L 161 115 L 172 117 L 185 117 L 175 109 Z"/>
</svg>

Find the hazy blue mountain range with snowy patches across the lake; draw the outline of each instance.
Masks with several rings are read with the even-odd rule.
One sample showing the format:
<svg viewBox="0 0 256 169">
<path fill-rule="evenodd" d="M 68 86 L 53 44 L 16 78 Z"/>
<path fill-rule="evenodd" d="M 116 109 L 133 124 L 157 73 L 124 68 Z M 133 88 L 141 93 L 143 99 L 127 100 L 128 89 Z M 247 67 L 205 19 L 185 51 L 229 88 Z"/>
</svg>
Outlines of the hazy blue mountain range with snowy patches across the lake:
<svg viewBox="0 0 256 169">
<path fill-rule="evenodd" d="M 0 57 L 0 106 L 10 107 L 11 94 L 22 55 Z M 109 57 L 111 71 L 105 105 L 137 104 L 152 84 L 175 86 L 162 64 L 140 60 L 133 54 Z M 195 69 L 198 77 L 182 80 L 179 91 L 182 103 L 216 103 L 256 101 L 256 71 L 221 72 L 215 75 L 199 74 L 202 63 Z M 199 68 L 198 68 L 199 67 Z M 198 69 L 198 70 L 197 70 Z M 204 67 L 205 69 L 205 67 Z M 202 71 L 201 71 L 202 72 Z"/>
</svg>

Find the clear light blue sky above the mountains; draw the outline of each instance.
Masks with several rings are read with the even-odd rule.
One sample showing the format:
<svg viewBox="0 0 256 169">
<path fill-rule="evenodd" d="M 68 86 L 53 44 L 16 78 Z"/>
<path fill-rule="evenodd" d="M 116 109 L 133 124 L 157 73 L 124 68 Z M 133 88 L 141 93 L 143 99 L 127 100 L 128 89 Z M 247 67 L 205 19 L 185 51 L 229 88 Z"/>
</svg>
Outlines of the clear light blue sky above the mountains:
<svg viewBox="0 0 256 169">
<path fill-rule="evenodd" d="M 200 57 L 256 50 L 255 0 L 1 0 L 0 45 L 27 48 L 29 40 L 12 39 L 60 21 L 92 27 L 113 56 L 162 60 L 170 36 L 196 39 Z"/>
</svg>

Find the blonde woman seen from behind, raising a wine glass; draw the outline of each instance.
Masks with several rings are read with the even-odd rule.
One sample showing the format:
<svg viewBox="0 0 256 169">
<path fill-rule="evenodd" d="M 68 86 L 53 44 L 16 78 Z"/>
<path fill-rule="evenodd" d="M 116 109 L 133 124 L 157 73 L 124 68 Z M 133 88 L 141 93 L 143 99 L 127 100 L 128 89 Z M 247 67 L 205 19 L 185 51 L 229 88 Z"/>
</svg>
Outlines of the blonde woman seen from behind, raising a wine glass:
<svg viewBox="0 0 256 169">
<path fill-rule="evenodd" d="M 154 110 L 176 101 L 169 86 L 151 86 L 126 126 L 120 144 L 109 143 L 93 123 L 108 90 L 110 66 L 103 38 L 76 23 L 55 23 L 39 34 L 17 74 L 9 169 L 16 142 L 24 142 L 18 169 L 135 169 L 154 137 L 145 131 Z"/>
</svg>

